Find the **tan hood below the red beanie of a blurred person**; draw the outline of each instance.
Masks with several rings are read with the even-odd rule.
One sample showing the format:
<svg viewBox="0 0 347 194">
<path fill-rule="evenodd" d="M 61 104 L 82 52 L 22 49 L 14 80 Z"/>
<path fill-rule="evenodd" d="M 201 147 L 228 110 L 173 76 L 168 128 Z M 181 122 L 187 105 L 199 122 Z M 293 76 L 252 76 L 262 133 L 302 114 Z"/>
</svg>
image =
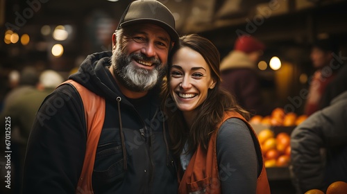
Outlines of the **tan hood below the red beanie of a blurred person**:
<svg viewBox="0 0 347 194">
<path fill-rule="evenodd" d="M 246 53 L 242 51 L 231 51 L 225 58 L 223 58 L 223 60 L 221 60 L 219 69 L 223 71 L 235 68 L 255 69 L 255 64 L 248 58 Z"/>
</svg>

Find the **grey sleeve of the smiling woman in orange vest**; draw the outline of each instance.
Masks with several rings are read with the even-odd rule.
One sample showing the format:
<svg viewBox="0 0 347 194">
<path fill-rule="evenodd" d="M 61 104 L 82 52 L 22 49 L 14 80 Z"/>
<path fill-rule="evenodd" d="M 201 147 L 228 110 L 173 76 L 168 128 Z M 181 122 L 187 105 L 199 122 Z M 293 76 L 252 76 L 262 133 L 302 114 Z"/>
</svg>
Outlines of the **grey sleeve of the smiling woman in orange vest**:
<svg viewBox="0 0 347 194">
<path fill-rule="evenodd" d="M 257 154 L 250 130 L 239 118 L 229 118 L 217 136 L 221 193 L 255 193 Z"/>
</svg>

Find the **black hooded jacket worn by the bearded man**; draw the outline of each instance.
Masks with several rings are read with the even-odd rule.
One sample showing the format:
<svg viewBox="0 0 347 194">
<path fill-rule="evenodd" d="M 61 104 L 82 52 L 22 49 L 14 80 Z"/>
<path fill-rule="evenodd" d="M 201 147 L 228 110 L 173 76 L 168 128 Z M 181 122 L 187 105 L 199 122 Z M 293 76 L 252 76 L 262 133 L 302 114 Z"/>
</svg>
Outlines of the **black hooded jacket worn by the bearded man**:
<svg viewBox="0 0 347 194">
<path fill-rule="evenodd" d="M 94 193 L 177 193 L 176 169 L 163 132 L 165 116 L 158 107 L 159 90 L 139 99 L 126 98 L 108 70 L 111 55 L 110 51 L 88 55 L 69 78 L 105 98 L 92 175 Z M 81 97 L 71 85 L 61 85 L 37 112 L 26 152 L 24 193 L 76 193 L 86 131 Z"/>
</svg>

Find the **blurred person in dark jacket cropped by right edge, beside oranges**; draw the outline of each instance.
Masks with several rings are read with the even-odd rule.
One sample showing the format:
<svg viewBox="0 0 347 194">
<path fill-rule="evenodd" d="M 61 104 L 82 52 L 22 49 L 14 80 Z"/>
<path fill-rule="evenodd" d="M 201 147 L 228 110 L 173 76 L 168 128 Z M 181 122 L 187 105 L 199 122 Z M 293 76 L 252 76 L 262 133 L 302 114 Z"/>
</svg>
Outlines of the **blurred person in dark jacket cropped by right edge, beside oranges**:
<svg viewBox="0 0 347 194">
<path fill-rule="evenodd" d="M 291 132 L 291 166 L 297 193 L 326 191 L 347 182 L 347 91 Z"/>
</svg>

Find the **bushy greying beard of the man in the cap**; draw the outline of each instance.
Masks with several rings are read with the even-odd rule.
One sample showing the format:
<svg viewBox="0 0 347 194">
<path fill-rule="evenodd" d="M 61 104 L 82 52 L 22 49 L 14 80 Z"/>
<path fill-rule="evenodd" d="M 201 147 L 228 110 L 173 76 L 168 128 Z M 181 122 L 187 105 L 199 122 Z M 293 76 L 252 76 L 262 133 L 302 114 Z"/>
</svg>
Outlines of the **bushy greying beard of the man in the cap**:
<svg viewBox="0 0 347 194">
<path fill-rule="evenodd" d="M 117 47 L 119 48 L 119 47 Z M 151 62 L 155 65 L 154 69 L 144 69 L 138 67 L 133 60 L 143 60 Z M 155 85 L 164 77 L 167 66 L 162 64 L 159 59 L 147 58 L 142 53 L 132 53 L 126 55 L 121 49 L 116 49 L 112 54 L 111 61 L 113 72 L 117 80 L 131 91 L 148 91 L 153 89 Z"/>
</svg>

